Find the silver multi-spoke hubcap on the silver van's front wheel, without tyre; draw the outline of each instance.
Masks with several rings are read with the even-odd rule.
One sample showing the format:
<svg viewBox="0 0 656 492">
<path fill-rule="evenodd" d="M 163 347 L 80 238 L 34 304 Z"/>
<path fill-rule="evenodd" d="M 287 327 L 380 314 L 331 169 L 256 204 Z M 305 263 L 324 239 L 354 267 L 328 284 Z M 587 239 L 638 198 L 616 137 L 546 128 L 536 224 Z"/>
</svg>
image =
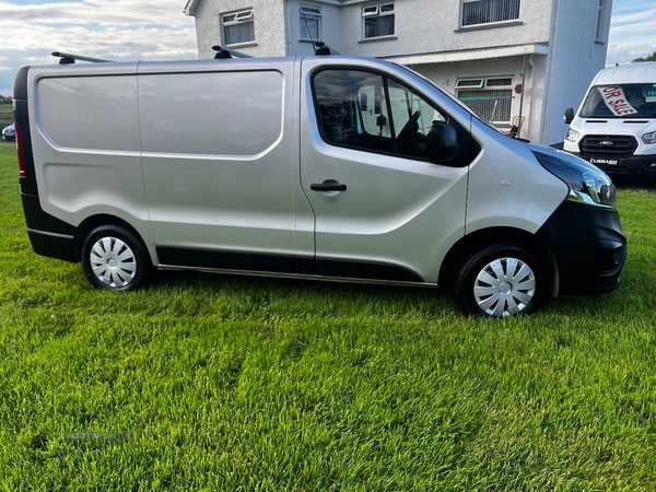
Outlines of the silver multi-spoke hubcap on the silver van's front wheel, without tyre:
<svg viewBox="0 0 656 492">
<path fill-rule="evenodd" d="M 500 258 L 485 265 L 473 283 L 478 306 L 490 316 L 522 313 L 536 292 L 536 276 L 517 258 Z"/>
</svg>

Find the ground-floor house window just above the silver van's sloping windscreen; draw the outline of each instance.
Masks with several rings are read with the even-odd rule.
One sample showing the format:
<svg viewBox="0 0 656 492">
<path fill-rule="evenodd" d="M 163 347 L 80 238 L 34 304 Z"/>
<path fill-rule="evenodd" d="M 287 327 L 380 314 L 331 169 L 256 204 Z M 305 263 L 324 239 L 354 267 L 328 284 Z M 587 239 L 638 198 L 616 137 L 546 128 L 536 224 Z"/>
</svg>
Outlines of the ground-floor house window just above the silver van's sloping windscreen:
<svg viewBox="0 0 656 492">
<path fill-rule="evenodd" d="M 485 121 L 509 125 L 513 106 L 513 78 L 460 79 L 458 98 Z"/>
</svg>

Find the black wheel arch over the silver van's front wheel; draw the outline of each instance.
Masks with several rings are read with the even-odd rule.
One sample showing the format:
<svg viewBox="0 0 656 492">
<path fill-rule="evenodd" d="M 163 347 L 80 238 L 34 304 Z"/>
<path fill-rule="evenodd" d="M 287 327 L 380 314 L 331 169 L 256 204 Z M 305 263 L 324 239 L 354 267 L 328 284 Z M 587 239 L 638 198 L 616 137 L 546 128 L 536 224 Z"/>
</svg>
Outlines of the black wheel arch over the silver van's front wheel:
<svg viewBox="0 0 656 492">
<path fill-rule="evenodd" d="M 460 238 L 452 246 L 442 261 L 437 285 L 441 289 L 453 291 L 453 280 L 456 272 L 469 256 L 492 244 L 505 242 L 518 243 L 538 258 L 541 267 L 547 272 L 548 294 L 551 297 L 557 297 L 559 270 L 554 256 L 535 234 L 513 227 L 483 229 Z"/>
</svg>

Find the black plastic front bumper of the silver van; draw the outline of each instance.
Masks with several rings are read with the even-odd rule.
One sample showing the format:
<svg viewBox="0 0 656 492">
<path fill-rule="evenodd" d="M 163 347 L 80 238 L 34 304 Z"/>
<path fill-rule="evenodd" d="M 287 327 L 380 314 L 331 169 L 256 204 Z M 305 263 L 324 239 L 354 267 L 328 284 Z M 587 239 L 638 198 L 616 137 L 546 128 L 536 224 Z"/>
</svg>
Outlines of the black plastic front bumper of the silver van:
<svg viewBox="0 0 656 492">
<path fill-rule="evenodd" d="M 537 236 L 559 269 L 559 294 L 602 294 L 620 284 L 626 236 L 617 210 L 564 201 Z"/>
</svg>

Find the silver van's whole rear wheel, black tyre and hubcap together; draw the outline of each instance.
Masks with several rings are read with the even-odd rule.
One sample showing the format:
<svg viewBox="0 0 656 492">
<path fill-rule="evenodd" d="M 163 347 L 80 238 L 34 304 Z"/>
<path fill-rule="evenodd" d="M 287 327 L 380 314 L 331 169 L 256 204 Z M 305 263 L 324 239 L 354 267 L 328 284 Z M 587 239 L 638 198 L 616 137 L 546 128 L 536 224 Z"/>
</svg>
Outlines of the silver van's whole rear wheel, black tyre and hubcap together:
<svg viewBox="0 0 656 492">
<path fill-rule="evenodd" d="M 130 231 L 101 225 L 84 239 L 82 269 L 97 289 L 133 291 L 149 281 L 153 267 L 145 247 Z"/>
</svg>

